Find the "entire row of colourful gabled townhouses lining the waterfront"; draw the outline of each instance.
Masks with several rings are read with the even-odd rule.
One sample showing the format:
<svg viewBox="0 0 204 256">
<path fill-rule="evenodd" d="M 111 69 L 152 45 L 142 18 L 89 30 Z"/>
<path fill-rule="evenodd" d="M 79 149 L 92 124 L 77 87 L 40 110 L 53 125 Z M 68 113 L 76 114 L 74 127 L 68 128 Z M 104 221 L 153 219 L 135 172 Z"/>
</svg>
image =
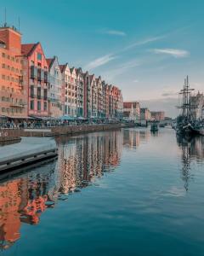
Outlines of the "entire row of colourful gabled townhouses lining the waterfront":
<svg viewBox="0 0 204 256">
<path fill-rule="evenodd" d="M 21 44 L 14 27 L 0 27 L 0 115 L 121 118 L 122 91 L 82 68 L 47 58 L 42 45 Z"/>
</svg>

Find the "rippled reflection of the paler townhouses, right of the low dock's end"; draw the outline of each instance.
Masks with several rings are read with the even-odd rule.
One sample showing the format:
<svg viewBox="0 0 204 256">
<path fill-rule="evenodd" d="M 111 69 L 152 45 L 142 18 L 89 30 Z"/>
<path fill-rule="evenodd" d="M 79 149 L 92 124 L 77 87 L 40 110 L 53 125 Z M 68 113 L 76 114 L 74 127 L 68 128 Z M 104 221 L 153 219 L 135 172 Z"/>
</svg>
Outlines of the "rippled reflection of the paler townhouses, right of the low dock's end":
<svg viewBox="0 0 204 256">
<path fill-rule="evenodd" d="M 91 133 L 69 139 L 60 137 L 59 192 L 68 194 L 88 186 L 119 165 L 122 132 Z"/>
</svg>

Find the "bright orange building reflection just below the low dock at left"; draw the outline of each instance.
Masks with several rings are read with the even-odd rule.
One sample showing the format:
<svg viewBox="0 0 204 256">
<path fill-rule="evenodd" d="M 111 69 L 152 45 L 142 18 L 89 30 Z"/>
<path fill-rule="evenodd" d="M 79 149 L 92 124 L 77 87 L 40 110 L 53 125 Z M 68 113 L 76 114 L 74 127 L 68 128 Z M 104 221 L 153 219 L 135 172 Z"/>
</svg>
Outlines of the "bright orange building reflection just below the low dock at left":
<svg viewBox="0 0 204 256">
<path fill-rule="evenodd" d="M 0 184 L 1 248 L 10 247 L 20 238 L 22 222 L 37 224 L 41 213 L 54 203 L 54 186 L 51 184 L 55 166 L 56 162 L 50 162 Z"/>
</svg>

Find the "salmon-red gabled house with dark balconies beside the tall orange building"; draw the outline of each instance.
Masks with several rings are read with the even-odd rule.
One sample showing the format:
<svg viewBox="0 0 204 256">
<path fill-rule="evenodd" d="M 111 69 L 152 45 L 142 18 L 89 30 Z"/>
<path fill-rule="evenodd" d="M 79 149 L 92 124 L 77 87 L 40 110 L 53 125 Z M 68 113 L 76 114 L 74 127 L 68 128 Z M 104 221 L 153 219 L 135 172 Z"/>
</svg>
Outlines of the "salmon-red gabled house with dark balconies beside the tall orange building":
<svg viewBox="0 0 204 256">
<path fill-rule="evenodd" d="M 23 79 L 27 88 L 28 116 L 48 116 L 48 63 L 42 45 L 22 44 Z"/>
</svg>

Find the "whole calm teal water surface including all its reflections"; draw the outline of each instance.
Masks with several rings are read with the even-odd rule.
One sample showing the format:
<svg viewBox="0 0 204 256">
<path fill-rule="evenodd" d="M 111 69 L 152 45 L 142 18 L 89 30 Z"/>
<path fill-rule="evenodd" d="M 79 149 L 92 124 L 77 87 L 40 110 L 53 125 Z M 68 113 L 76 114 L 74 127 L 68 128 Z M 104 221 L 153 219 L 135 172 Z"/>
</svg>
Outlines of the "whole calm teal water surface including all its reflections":
<svg viewBox="0 0 204 256">
<path fill-rule="evenodd" d="M 58 160 L 1 181 L 1 255 L 204 255 L 204 137 L 58 143 Z"/>
</svg>

